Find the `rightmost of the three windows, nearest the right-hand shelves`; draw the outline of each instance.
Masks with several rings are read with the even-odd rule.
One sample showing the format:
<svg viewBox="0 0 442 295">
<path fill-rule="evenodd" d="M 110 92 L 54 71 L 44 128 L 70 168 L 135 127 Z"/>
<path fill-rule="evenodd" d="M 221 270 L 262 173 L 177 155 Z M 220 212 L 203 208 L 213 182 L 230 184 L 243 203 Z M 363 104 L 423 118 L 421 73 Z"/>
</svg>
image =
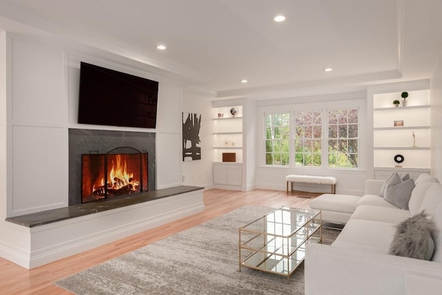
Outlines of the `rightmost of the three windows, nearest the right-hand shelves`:
<svg viewBox="0 0 442 295">
<path fill-rule="evenodd" d="M 358 110 L 328 112 L 329 167 L 358 167 Z"/>
</svg>

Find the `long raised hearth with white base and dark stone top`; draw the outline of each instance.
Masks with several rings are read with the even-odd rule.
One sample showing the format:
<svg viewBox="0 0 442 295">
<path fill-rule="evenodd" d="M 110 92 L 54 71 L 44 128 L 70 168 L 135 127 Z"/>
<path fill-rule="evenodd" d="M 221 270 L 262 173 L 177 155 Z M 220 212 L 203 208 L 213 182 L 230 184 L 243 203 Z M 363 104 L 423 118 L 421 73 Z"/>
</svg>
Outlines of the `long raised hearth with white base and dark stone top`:
<svg viewBox="0 0 442 295">
<path fill-rule="evenodd" d="M 0 220 L 0 256 L 33 269 L 200 213 L 203 191 L 177 186 Z"/>
</svg>

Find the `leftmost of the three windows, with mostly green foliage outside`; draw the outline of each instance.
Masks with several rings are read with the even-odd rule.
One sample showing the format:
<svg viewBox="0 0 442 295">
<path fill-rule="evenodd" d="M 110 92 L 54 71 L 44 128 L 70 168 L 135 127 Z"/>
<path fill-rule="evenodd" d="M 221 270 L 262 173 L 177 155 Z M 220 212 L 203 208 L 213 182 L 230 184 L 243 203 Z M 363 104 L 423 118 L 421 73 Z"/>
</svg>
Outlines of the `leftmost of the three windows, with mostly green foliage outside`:
<svg viewBox="0 0 442 295">
<path fill-rule="evenodd" d="M 265 164 L 289 165 L 290 114 L 266 114 L 265 134 Z"/>
</svg>

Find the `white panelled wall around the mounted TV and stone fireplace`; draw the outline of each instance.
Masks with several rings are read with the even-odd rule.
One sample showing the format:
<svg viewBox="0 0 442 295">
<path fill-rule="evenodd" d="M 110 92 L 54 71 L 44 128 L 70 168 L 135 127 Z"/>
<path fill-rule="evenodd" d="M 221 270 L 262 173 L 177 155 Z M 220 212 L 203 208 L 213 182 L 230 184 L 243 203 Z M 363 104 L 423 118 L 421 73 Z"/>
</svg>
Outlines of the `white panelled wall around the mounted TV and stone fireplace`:
<svg viewBox="0 0 442 295">
<path fill-rule="evenodd" d="M 3 216 L 68 205 L 69 128 L 155 132 L 157 188 L 181 184 L 178 82 L 128 66 L 118 57 L 104 59 L 96 55 L 97 50 L 89 55 L 87 50 L 79 52 L 43 39 L 11 33 L 2 37 L 1 57 L 9 61 L 1 68 L 1 81 L 6 84 L 0 100 L 1 175 L 6 183 L 0 195 Z M 157 129 L 77 124 L 79 61 L 158 81 Z M 4 110 L 8 110 L 7 120 Z"/>
</svg>

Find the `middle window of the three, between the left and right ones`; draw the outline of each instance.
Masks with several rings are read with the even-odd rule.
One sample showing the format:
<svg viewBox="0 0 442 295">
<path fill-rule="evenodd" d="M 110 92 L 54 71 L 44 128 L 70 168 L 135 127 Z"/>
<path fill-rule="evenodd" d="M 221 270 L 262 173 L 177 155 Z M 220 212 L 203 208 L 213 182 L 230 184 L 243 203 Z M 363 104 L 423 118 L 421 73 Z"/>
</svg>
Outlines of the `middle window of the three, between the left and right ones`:
<svg viewBox="0 0 442 295">
<path fill-rule="evenodd" d="M 322 113 L 295 112 L 295 165 L 321 166 Z"/>
</svg>

